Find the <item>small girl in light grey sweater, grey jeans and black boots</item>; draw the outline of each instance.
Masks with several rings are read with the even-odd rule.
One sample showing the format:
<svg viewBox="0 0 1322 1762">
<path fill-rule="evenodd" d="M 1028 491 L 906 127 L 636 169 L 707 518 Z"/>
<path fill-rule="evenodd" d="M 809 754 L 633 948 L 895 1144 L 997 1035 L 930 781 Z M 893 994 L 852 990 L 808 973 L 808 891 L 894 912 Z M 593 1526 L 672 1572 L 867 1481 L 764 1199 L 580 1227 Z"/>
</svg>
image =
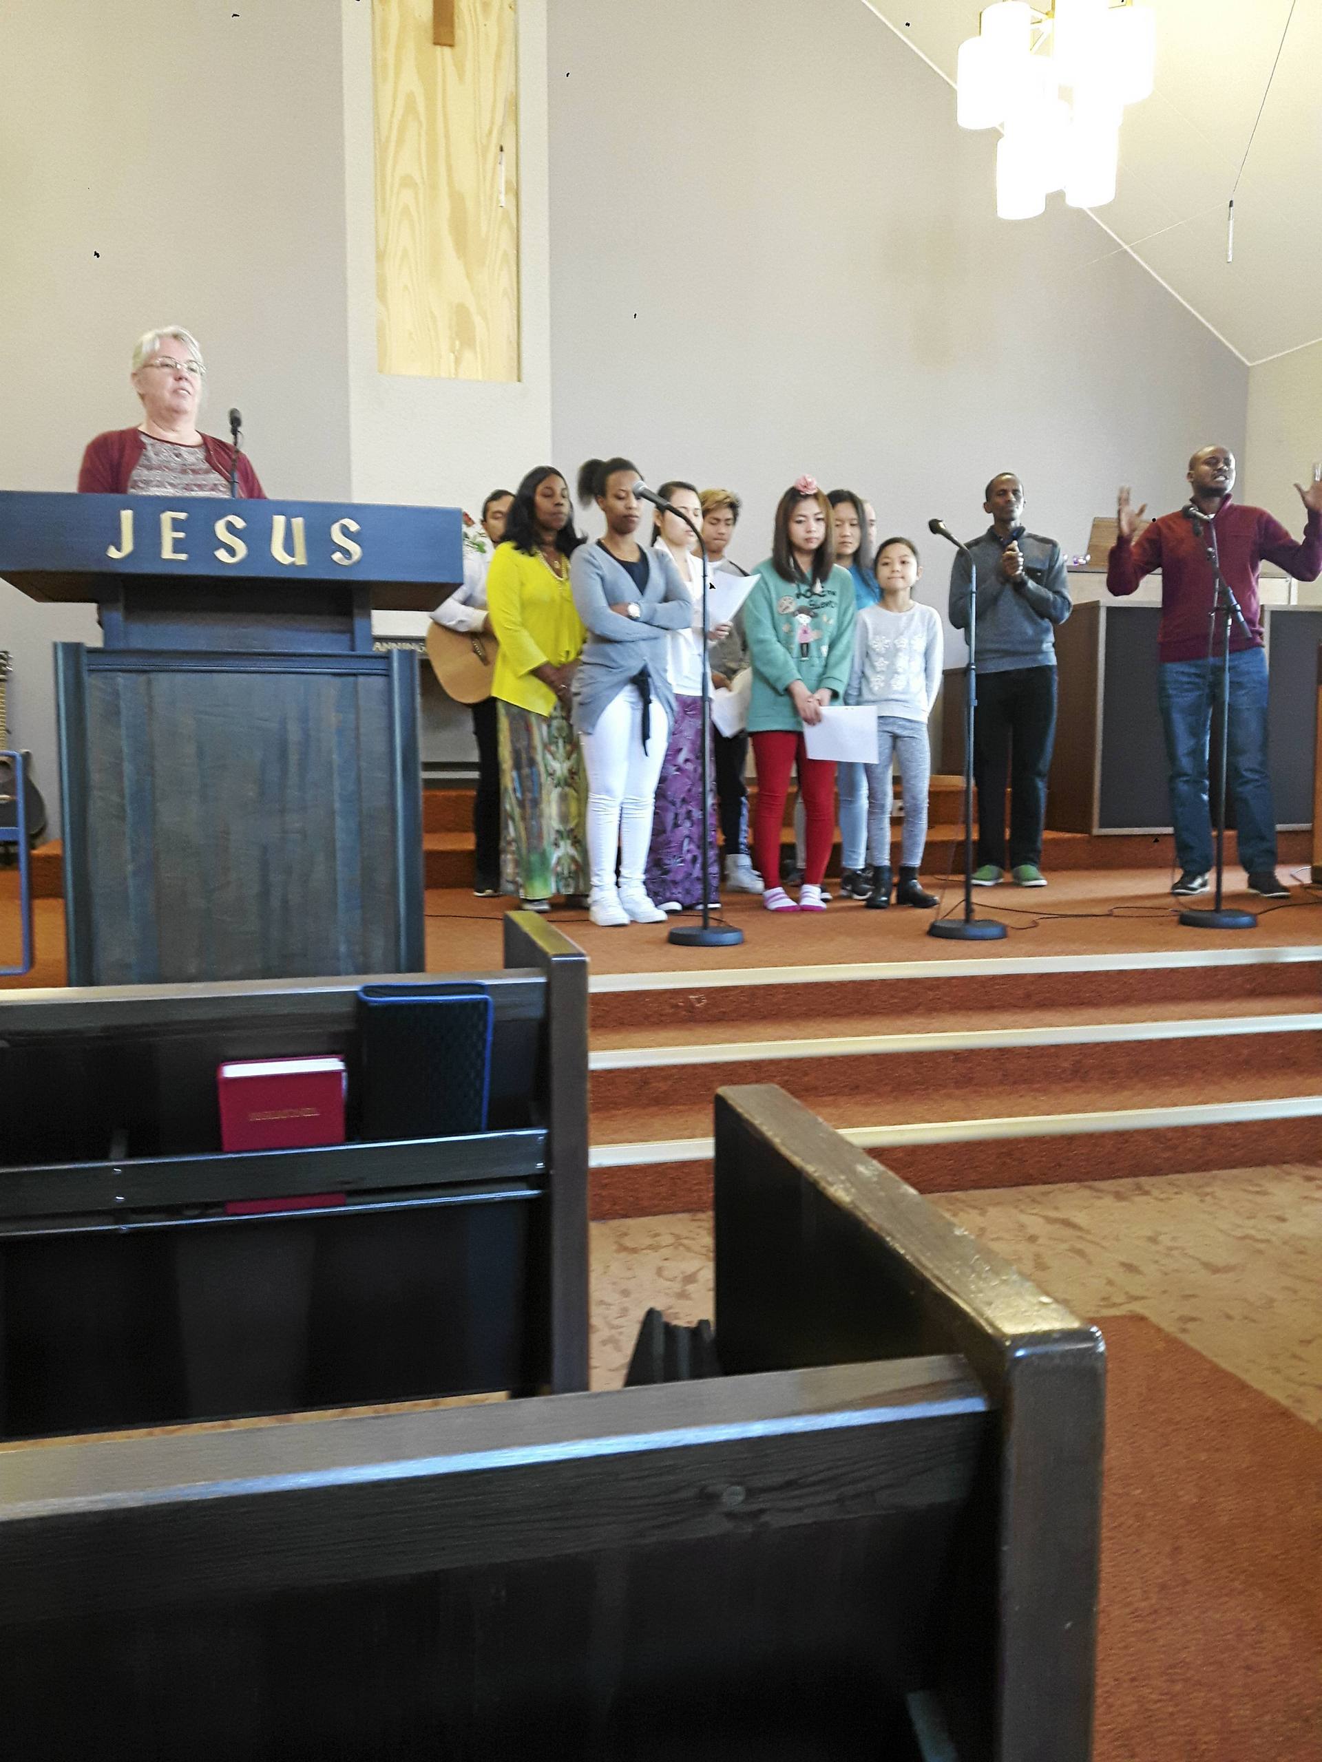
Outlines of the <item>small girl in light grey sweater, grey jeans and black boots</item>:
<svg viewBox="0 0 1322 1762">
<path fill-rule="evenodd" d="M 865 904 L 890 904 L 890 766 L 899 761 L 904 786 L 904 832 L 901 840 L 897 906 L 936 904 L 918 885 L 918 867 L 927 842 L 927 788 L 931 747 L 927 717 L 941 689 L 945 640 L 941 618 L 918 604 L 913 583 L 922 574 L 918 548 L 911 539 L 887 539 L 876 553 L 881 604 L 865 606 L 855 624 L 853 671 L 846 703 L 876 707 L 876 765 L 867 766 L 867 860 L 873 890 Z"/>
</svg>

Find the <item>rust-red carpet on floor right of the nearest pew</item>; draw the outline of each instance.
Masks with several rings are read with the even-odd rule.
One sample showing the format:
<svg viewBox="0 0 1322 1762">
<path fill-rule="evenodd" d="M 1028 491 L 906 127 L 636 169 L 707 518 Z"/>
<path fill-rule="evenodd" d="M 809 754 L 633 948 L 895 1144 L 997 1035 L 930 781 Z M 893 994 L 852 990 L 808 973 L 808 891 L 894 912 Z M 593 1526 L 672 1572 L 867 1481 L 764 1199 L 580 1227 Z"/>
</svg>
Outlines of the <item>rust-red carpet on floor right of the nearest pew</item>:
<svg viewBox="0 0 1322 1762">
<path fill-rule="evenodd" d="M 1142 1316 L 1098 1325 L 1095 1762 L 1322 1755 L 1322 1433 Z"/>
</svg>

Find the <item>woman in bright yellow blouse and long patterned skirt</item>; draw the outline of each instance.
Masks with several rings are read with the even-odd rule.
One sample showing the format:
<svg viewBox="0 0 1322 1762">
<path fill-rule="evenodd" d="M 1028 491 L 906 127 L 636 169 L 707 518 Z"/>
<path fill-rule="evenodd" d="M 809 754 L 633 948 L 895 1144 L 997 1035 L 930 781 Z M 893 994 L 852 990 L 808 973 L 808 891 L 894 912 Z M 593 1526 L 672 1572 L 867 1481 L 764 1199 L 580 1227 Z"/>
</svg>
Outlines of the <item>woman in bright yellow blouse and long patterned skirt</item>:
<svg viewBox="0 0 1322 1762">
<path fill-rule="evenodd" d="M 492 557 L 486 610 L 501 652 L 501 892 L 546 911 L 587 893 L 587 772 L 569 722 L 583 626 L 569 589 L 569 485 L 550 465 L 520 483 Z"/>
</svg>

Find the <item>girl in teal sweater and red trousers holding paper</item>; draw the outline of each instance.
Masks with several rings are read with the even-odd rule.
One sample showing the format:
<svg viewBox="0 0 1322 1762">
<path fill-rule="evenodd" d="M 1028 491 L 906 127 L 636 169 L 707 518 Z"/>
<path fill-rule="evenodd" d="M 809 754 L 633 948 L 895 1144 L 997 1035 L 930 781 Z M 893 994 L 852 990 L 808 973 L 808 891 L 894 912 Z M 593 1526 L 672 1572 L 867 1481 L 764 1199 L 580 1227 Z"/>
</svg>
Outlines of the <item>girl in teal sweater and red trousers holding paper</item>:
<svg viewBox="0 0 1322 1762">
<path fill-rule="evenodd" d="M 836 839 L 836 766 L 809 759 L 804 726 L 844 698 L 853 663 L 853 581 L 836 566 L 832 507 L 813 478 L 800 478 L 776 509 L 772 555 L 744 601 L 753 666 L 747 731 L 758 770 L 753 848 L 769 911 L 825 911 L 821 877 Z M 783 886 L 781 825 L 790 772 L 807 811 L 807 862 L 798 904 Z"/>
</svg>

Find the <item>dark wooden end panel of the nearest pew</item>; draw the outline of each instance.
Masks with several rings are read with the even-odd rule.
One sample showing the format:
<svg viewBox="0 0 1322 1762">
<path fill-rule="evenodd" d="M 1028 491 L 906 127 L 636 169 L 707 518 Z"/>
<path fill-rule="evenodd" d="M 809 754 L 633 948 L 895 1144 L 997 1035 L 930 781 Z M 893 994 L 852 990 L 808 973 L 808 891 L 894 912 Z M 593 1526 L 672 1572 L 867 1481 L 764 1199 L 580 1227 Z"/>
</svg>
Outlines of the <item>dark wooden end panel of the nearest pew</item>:
<svg viewBox="0 0 1322 1762">
<path fill-rule="evenodd" d="M 996 1411 L 938 1699 L 961 1757 L 1086 1762 L 1105 1355 L 1086 1327 L 770 1085 L 716 1098 L 726 1374 L 954 1351 Z"/>
</svg>

